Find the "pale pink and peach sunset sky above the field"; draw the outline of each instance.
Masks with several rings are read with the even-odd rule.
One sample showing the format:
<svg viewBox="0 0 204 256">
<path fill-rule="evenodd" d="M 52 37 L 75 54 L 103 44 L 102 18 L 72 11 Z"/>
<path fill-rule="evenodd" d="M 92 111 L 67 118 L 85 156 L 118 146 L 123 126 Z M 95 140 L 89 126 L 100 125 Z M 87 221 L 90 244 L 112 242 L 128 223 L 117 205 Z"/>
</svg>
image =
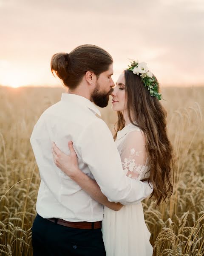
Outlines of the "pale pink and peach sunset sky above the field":
<svg viewBox="0 0 204 256">
<path fill-rule="evenodd" d="M 61 85 L 56 52 L 96 44 L 113 56 L 113 80 L 128 58 L 161 84 L 204 85 L 204 0 L 0 0 L 0 84 Z"/>
</svg>

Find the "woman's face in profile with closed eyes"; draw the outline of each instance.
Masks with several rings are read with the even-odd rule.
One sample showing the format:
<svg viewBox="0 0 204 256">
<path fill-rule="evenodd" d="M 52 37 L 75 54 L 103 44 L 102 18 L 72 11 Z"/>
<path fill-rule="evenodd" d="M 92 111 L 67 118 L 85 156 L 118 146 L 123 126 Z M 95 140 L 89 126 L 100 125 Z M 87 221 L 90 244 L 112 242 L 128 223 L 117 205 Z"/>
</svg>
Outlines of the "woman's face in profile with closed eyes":
<svg viewBox="0 0 204 256">
<path fill-rule="evenodd" d="M 125 93 L 125 74 L 122 73 L 114 87 L 112 96 L 112 110 L 114 111 L 124 111 L 127 109 L 127 99 Z"/>
</svg>

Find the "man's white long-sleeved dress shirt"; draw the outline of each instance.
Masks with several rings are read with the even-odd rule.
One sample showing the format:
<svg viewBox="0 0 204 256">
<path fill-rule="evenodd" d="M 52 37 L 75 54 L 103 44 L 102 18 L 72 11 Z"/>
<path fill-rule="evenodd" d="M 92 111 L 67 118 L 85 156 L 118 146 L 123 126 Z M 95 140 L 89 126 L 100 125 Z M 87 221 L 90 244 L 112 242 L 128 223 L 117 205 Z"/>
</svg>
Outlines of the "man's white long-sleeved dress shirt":
<svg viewBox="0 0 204 256">
<path fill-rule="evenodd" d="M 109 201 L 131 204 L 151 194 L 147 182 L 126 177 L 111 131 L 88 99 L 63 93 L 60 102 L 45 110 L 34 126 L 31 145 L 41 183 L 36 210 L 42 218 L 101 221 L 103 205 L 91 198 L 53 162 L 51 142 L 69 154 L 73 141 L 79 169 L 99 184 Z"/>
</svg>

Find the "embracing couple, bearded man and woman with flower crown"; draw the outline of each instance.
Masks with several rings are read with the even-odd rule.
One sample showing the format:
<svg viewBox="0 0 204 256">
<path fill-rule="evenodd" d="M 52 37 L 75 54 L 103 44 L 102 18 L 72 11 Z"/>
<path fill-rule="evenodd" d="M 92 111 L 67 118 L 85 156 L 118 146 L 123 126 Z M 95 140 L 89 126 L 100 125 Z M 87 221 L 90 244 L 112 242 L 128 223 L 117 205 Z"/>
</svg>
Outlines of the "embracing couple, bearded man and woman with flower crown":
<svg viewBox="0 0 204 256">
<path fill-rule="evenodd" d="M 173 189 L 156 77 L 133 61 L 114 84 L 111 55 L 94 45 L 53 55 L 51 70 L 68 90 L 31 135 L 41 177 L 34 256 L 151 256 L 141 201 L 159 205 Z M 106 107 L 110 95 L 114 137 L 95 106 Z"/>
</svg>

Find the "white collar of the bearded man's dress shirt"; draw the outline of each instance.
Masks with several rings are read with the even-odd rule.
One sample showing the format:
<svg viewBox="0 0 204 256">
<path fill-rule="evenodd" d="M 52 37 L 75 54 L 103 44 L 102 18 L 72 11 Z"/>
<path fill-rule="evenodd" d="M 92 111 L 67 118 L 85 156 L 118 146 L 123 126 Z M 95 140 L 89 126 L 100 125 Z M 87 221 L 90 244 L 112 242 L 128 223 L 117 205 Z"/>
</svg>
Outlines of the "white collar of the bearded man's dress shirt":
<svg viewBox="0 0 204 256">
<path fill-rule="evenodd" d="M 98 108 L 96 108 L 96 106 L 90 100 L 86 99 L 85 97 L 79 96 L 77 94 L 62 93 L 61 101 L 78 103 L 80 105 L 86 106 L 87 108 L 94 111 L 94 113 L 101 116 L 101 113 L 98 110 Z"/>
</svg>

